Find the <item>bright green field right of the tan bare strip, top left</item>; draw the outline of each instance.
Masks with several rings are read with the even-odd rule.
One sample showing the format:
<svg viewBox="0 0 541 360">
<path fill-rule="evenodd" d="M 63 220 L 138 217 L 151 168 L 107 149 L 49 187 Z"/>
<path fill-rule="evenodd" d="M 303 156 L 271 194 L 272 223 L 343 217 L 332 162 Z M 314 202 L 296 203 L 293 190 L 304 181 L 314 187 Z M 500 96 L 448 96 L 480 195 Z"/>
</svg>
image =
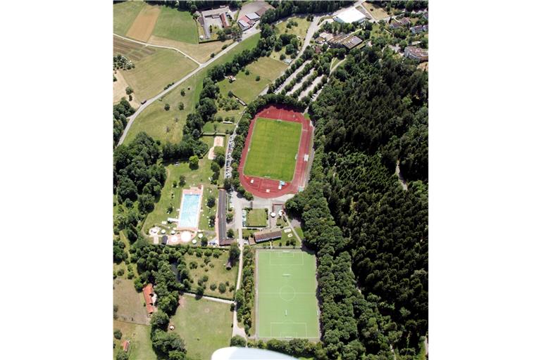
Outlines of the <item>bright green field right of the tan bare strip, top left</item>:
<svg viewBox="0 0 541 360">
<path fill-rule="evenodd" d="M 198 44 L 196 26 L 194 18 L 188 11 L 163 6 L 152 34 L 188 44 Z"/>
</svg>

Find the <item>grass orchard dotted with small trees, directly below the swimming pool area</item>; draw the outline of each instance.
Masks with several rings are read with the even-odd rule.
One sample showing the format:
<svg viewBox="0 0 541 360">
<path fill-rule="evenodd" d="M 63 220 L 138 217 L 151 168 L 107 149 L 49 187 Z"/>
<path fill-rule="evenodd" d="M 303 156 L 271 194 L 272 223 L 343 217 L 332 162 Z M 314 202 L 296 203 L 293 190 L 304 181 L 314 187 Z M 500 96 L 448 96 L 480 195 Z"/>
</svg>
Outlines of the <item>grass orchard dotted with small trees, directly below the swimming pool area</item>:
<svg viewBox="0 0 541 360">
<path fill-rule="evenodd" d="M 214 250 L 216 251 L 216 250 Z M 209 281 L 206 281 L 205 295 L 225 297 L 233 299 L 235 295 L 235 283 L 237 282 L 237 273 L 238 273 L 238 264 L 235 264 L 230 270 L 225 269 L 225 264 L 228 263 L 229 251 L 218 250 L 221 252 L 220 257 L 216 258 L 210 256 L 211 260 L 209 264 L 204 263 L 205 255 L 197 257 L 195 253 L 193 255 L 184 255 L 186 264 L 189 266 L 190 262 L 197 262 L 197 269 L 189 268 L 189 276 L 192 276 L 194 283 L 193 289 L 197 288 L 197 281 L 202 278 L 204 275 L 209 276 Z M 202 267 L 201 267 L 202 266 Z M 225 283 L 227 289 L 224 293 L 220 293 L 220 290 L 211 290 L 211 285 L 220 283 Z M 229 284 L 229 285 L 228 285 Z M 233 290 L 230 291 L 230 287 L 233 287 Z"/>
</svg>

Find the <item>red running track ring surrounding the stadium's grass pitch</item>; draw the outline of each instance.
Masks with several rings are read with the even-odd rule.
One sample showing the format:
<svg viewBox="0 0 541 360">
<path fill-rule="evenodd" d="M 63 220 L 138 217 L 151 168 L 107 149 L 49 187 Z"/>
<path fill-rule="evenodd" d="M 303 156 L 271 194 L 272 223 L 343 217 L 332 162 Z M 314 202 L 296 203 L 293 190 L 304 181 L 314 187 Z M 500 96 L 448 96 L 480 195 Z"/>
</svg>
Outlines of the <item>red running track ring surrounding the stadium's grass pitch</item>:
<svg viewBox="0 0 541 360">
<path fill-rule="evenodd" d="M 254 126 L 259 117 L 268 119 L 278 119 L 291 122 L 300 122 L 302 124 L 301 141 L 299 142 L 299 150 L 297 152 L 297 164 L 295 165 L 295 174 L 291 182 L 286 182 L 279 189 L 280 181 L 265 179 L 257 176 L 244 175 L 244 162 L 248 153 L 249 144 L 251 141 L 251 133 L 254 131 Z M 287 107 L 270 105 L 259 111 L 251 120 L 246 143 L 242 149 L 242 157 L 240 158 L 239 177 L 240 184 L 247 191 L 258 196 L 259 198 L 278 198 L 285 194 L 294 194 L 299 192 L 299 186 L 304 186 L 306 181 L 306 169 L 308 168 L 309 155 L 311 153 L 310 142 L 313 134 L 313 127 L 310 120 L 306 119 L 301 113 L 290 110 Z M 306 160 L 304 159 L 306 156 Z"/>
</svg>

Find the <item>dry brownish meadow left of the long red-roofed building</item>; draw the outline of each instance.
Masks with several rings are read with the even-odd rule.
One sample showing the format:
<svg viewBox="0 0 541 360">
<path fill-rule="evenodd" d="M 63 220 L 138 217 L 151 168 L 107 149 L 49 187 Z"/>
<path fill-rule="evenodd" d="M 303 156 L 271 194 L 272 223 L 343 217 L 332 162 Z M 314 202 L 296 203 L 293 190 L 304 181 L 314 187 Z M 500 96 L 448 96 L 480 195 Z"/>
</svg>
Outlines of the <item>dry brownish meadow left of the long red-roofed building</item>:
<svg viewBox="0 0 541 360">
<path fill-rule="evenodd" d="M 113 304 L 118 306 L 117 320 L 148 325 L 143 295 L 137 293 L 132 280 L 125 278 L 114 280 Z"/>
</svg>

